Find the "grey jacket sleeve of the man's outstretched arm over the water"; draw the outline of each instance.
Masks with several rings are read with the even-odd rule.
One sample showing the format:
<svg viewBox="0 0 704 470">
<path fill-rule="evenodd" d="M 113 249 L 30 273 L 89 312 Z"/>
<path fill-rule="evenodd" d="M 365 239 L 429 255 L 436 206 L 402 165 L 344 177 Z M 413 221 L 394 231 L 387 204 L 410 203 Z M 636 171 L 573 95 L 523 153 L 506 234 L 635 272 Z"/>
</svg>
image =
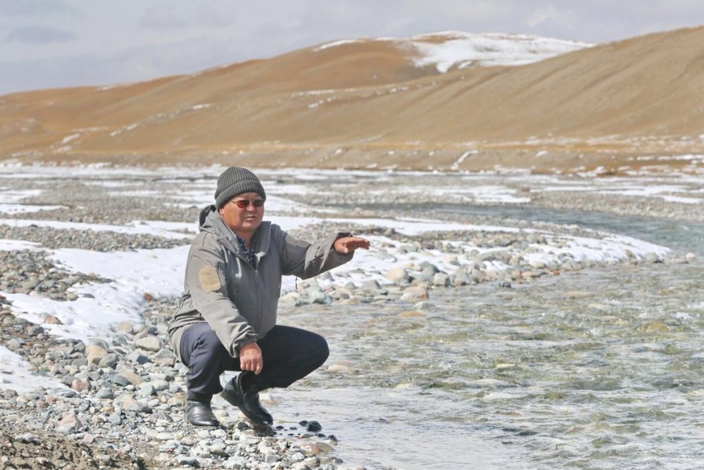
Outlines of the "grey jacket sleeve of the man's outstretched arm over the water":
<svg viewBox="0 0 704 470">
<path fill-rule="evenodd" d="M 311 245 L 279 229 L 277 237 L 279 237 L 280 245 L 283 246 L 282 273 L 308 279 L 345 264 L 352 259 L 354 253 L 339 254 L 335 251 L 333 244 L 338 238 L 349 235 L 349 233 L 343 232 L 334 233 Z"/>
</svg>

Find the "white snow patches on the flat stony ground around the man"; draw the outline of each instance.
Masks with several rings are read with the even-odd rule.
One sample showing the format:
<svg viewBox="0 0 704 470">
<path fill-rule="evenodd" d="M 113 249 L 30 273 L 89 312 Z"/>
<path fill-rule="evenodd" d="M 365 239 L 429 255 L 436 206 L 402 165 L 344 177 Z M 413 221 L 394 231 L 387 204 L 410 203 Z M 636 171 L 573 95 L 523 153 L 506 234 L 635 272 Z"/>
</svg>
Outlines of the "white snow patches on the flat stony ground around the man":
<svg viewBox="0 0 704 470">
<path fill-rule="evenodd" d="M 51 183 L 65 177 L 75 178 L 80 175 L 89 185 L 103 185 L 118 188 L 124 185 L 143 185 L 144 190 L 139 191 L 141 197 L 163 198 L 173 200 L 178 204 L 204 206 L 213 198 L 215 178 L 222 171 L 220 167 L 199 168 L 190 172 L 191 190 L 184 194 L 162 194 L 149 188 L 149 178 L 160 178 L 161 181 L 175 178 L 183 174 L 182 168 L 161 168 L 151 171 L 139 168 L 111 169 L 104 167 L 23 167 L 0 166 L 0 211 L 6 214 L 18 214 L 23 211 L 23 199 L 36 197 L 42 193 L 44 183 Z M 602 194 L 620 194 L 622 196 L 638 197 L 670 197 L 672 193 L 681 194 L 680 199 L 693 199 L 692 204 L 704 202 L 702 186 L 687 180 L 681 184 L 667 183 L 664 180 L 634 180 L 629 178 L 611 178 L 584 180 L 583 183 L 574 181 L 566 183 L 565 180 L 553 176 L 534 176 L 527 180 L 526 175 L 506 176 L 502 180 L 492 178 L 491 175 L 466 175 L 458 187 L 422 187 L 415 185 L 394 185 L 393 173 L 372 173 L 363 171 L 301 171 L 295 172 L 294 183 L 275 183 L 277 177 L 291 173 L 285 170 L 256 171 L 268 192 L 267 212 L 265 218 L 277 223 L 284 230 L 302 228 L 320 221 L 349 223 L 361 227 L 393 228 L 396 233 L 417 235 L 425 232 L 442 233 L 450 231 L 483 231 L 496 233 L 518 233 L 534 231 L 546 240 L 546 243 L 530 245 L 522 255 L 529 261 L 542 261 L 546 266 L 551 266 L 556 256 L 567 255 L 575 261 L 593 261 L 596 263 L 610 263 L 635 256 L 644 259 L 647 254 L 667 256 L 666 247 L 653 245 L 631 237 L 595 233 L 595 237 L 569 235 L 567 231 L 554 233 L 547 230 L 526 230 L 512 225 L 484 226 L 466 223 L 448 223 L 433 220 L 432 218 L 356 218 L 348 214 L 334 216 L 336 209 L 327 209 L 325 216 L 318 211 L 320 207 L 308 206 L 294 202 L 284 197 L 284 194 L 306 194 L 313 191 L 316 181 L 327 180 L 334 177 L 341 187 L 354 187 L 357 178 L 374 178 L 388 180 L 393 185 L 396 194 L 408 194 L 410 197 L 422 197 L 436 200 L 443 194 L 459 194 L 467 201 L 478 199 L 491 202 L 510 202 L 513 204 L 526 204 L 534 192 L 551 192 L 556 190 L 600 192 Z M 135 177 L 142 179 L 133 179 Z M 37 181 L 37 189 L 27 192 L 13 192 L 8 187 L 2 186 L 4 178 L 32 178 Z M 503 181 L 503 184 L 499 184 Z M 516 194 L 515 187 L 520 183 L 529 186 L 528 192 Z M 177 191 L 175 185 L 175 191 Z M 113 197 L 120 197 L 133 192 L 120 193 L 115 190 Z M 319 194 L 320 195 L 320 194 Z M 53 207 L 52 207 L 53 208 Z M 296 208 L 293 214 L 291 208 Z M 46 209 L 46 207 L 42 207 Z M 330 218 L 330 216 L 334 216 Z M 109 231 L 122 234 L 149 234 L 168 238 L 190 237 L 196 233 L 194 222 L 167 222 L 167 221 L 132 221 L 124 225 L 87 224 L 65 221 L 51 221 L 46 219 L 20 219 L 0 218 L 0 224 L 27 227 L 37 225 L 50 228 L 74 228 L 77 230 Z M 185 232 L 185 233 L 184 233 Z M 484 248 L 472 245 L 470 240 L 455 240 L 448 236 L 446 242 L 460 249 L 456 256 L 447 256 L 438 249 L 423 249 L 409 251 L 403 249 L 401 242 L 382 235 L 366 235 L 363 228 L 357 230 L 356 235 L 365 236 L 372 240 L 372 248 L 368 252 L 358 253 L 353 261 L 337 268 L 332 276 L 321 278 L 320 284 L 333 283 L 345 285 L 348 282 L 359 285 L 363 281 L 377 280 L 380 284 L 388 284 L 385 274 L 394 267 L 417 265 L 422 261 L 430 261 L 441 270 L 451 272 L 458 264 L 469 264 L 477 253 L 491 251 L 495 248 Z M 0 250 L 16 249 L 44 249 L 37 243 L 23 240 L 0 240 Z M 61 324 L 44 324 L 44 328 L 51 333 L 64 337 L 80 338 L 84 341 L 101 338 L 109 342 L 111 325 L 119 321 L 140 323 L 139 311 L 146 302 L 144 293 L 155 297 L 176 298 L 183 287 L 184 264 L 187 257 L 188 245 L 171 249 L 137 249 L 127 252 L 94 252 L 88 249 L 44 249 L 57 266 L 67 271 L 76 273 L 93 273 L 103 278 L 109 278 L 109 283 L 87 283 L 70 288 L 70 292 L 78 295 L 73 302 L 60 302 L 44 297 L 0 292 L 13 302 L 12 311 L 34 323 L 43 323 L 47 315 L 56 316 Z M 484 261 L 486 268 L 496 271 L 507 269 L 508 266 L 497 261 Z M 282 290 L 288 292 L 294 289 L 294 279 L 290 278 L 282 285 Z M 84 297 L 83 294 L 90 294 Z M 12 352 L 0 348 L 0 388 L 30 389 L 34 384 L 23 372 L 23 361 L 15 357 Z M 58 385 L 56 385 L 58 386 Z"/>
</svg>

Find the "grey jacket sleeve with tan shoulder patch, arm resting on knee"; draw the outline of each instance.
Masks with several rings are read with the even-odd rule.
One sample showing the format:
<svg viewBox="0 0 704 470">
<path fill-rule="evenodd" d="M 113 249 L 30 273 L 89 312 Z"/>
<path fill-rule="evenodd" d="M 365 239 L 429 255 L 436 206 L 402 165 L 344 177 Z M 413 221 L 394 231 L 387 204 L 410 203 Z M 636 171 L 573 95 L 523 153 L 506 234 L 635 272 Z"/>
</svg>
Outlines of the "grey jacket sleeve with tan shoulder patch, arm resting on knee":
<svg viewBox="0 0 704 470">
<path fill-rule="evenodd" d="M 222 248 L 205 245 L 196 248 L 186 266 L 186 283 L 194 307 L 213 328 L 230 356 L 237 357 L 239 348 L 257 340 L 254 328 L 227 296 Z"/>
</svg>

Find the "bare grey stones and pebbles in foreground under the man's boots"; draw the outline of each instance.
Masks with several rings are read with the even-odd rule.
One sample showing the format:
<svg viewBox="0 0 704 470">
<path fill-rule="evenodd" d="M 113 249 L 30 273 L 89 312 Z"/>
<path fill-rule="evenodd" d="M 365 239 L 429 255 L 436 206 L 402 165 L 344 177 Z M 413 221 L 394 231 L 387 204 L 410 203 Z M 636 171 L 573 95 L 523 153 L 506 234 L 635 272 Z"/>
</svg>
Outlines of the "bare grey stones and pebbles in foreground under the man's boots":
<svg viewBox="0 0 704 470">
<path fill-rule="evenodd" d="M 173 305 L 147 305 L 144 325 L 116 324 L 111 345 L 53 337 L 2 306 L 0 344 L 46 378 L 0 395 L 4 468 L 343 468 L 313 419 L 262 434 L 216 400 L 220 428 L 185 422 L 185 369 L 165 347 Z"/>
</svg>

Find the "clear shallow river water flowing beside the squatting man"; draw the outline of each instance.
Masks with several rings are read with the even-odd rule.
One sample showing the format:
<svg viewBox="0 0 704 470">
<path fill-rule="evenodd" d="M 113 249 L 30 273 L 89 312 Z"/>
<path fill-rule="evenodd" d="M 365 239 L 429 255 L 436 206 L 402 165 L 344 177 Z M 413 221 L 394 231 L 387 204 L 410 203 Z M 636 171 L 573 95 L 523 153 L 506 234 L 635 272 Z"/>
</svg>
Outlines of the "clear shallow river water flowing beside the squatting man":
<svg viewBox="0 0 704 470">
<path fill-rule="evenodd" d="M 530 214 L 703 254 L 696 223 Z M 608 266 L 513 289 L 434 290 L 401 316 L 413 307 L 282 309 L 280 323 L 324 335 L 327 364 L 348 361 L 351 373 L 315 373 L 275 391 L 271 408 L 291 423 L 317 419 L 340 439 L 338 457 L 367 468 L 701 468 L 702 268 Z"/>
</svg>

